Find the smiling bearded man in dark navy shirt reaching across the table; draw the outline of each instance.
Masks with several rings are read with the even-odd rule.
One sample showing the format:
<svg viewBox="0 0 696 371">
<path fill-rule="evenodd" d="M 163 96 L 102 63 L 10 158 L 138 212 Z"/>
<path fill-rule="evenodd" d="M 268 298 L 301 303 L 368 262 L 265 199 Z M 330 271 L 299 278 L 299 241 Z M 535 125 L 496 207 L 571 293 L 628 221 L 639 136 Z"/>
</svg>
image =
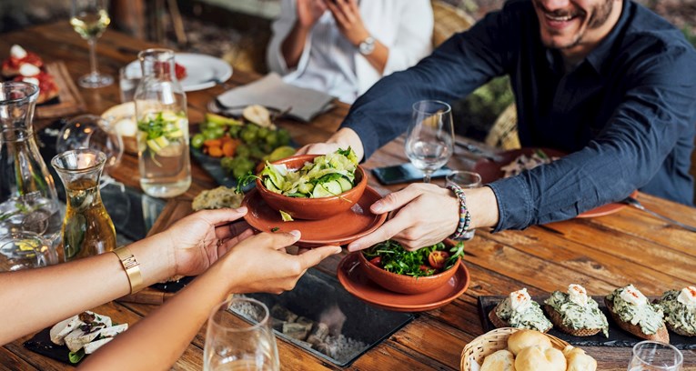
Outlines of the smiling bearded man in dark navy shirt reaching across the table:
<svg viewBox="0 0 696 371">
<path fill-rule="evenodd" d="M 452 36 L 352 106 L 328 143 L 369 156 L 405 131 L 420 99 L 454 101 L 509 75 L 524 146 L 569 155 L 464 191 L 411 185 L 371 207 L 395 217 L 349 246 L 394 236 L 410 248 L 449 236 L 466 221 L 495 231 L 569 219 L 635 189 L 692 205 L 696 51 L 681 31 L 631 0 L 511 0 Z M 459 215 L 462 214 L 462 217 Z"/>
</svg>

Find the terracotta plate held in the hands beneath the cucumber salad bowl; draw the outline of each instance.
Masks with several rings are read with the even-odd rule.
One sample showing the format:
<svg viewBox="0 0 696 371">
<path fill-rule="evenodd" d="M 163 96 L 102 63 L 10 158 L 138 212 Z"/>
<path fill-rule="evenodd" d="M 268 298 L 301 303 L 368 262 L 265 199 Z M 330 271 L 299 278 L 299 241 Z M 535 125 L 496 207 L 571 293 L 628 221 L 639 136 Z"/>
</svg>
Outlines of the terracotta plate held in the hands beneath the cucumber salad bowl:
<svg viewBox="0 0 696 371">
<path fill-rule="evenodd" d="M 272 230 L 288 232 L 297 229 L 302 233 L 298 246 L 317 247 L 348 245 L 381 226 L 387 219 L 387 214 L 376 216 L 369 212 L 369 206 L 380 198 L 382 196 L 379 196 L 377 191 L 368 186 L 358 204 L 345 213 L 322 220 L 295 220 L 292 222 L 283 222 L 280 213 L 266 204 L 256 188 L 247 193 L 242 201 L 242 206 L 247 206 L 249 210 L 247 216 L 244 216 L 249 226 L 262 232 Z"/>
</svg>

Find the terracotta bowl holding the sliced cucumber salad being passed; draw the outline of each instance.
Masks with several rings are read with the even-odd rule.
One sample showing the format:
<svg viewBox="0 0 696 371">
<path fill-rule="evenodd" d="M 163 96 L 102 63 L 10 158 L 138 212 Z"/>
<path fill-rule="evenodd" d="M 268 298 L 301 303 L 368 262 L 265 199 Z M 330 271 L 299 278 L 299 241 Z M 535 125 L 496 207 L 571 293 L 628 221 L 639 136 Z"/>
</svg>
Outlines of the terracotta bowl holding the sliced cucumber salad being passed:
<svg viewBox="0 0 696 371">
<path fill-rule="evenodd" d="M 311 162 L 318 155 L 294 155 L 274 162 L 274 165 L 285 164 L 288 169 L 298 169 Z M 318 220 L 336 216 L 348 211 L 358 203 L 358 200 L 368 186 L 368 175 L 358 165 L 355 172 L 356 185 L 338 196 L 320 198 L 288 197 L 269 191 L 263 185 L 261 179 L 257 179 L 258 193 L 266 201 L 267 205 L 275 210 L 283 210 L 293 219 Z"/>
</svg>

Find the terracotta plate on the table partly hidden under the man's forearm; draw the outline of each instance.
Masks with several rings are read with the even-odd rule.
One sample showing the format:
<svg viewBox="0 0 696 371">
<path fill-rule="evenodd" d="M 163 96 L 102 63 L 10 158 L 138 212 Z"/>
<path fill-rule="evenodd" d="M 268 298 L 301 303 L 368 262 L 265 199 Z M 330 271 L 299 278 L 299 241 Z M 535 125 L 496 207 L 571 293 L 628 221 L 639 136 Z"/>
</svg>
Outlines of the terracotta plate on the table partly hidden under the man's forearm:
<svg viewBox="0 0 696 371">
<path fill-rule="evenodd" d="M 476 165 L 474 165 L 474 171 L 479 173 L 481 175 L 481 180 L 483 183 L 490 183 L 496 179 L 499 179 L 505 175 L 505 172 L 500 170 L 500 167 L 504 165 L 508 165 L 512 161 L 515 160 L 515 158 L 519 157 L 519 155 L 531 155 L 536 151 L 537 149 L 540 149 L 544 151 L 546 155 L 550 155 L 552 157 L 562 157 L 565 155 L 563 152 L 560 152 L 555 149 L 550 149 L 550 148 L 532 148 L 532 147 L 525 147 L 525 148 L 520 148 L 520 149 L 513 149 L 507 152 L 503 152 L 499 154 L 499 161 L 490 161 L 485 158 L 481 158 L 479 161 L 476 162 Z M 638 195 L 638 191 L 633 191 L 633 193 L 630 194 L 631 197 L 635 197 Z M 615 202 L 612 204 L 607 204 L 599 207 L 595 207 L 591 210 L 588 210 L 582 214 L 580 214 L 578 217 L 595 217 L 595 216 L 606 216 L 609 214 L 616 213 L 620 209 L 626 207 L 625 204 L 621 204 L 619 202 Z"/>
</svg>

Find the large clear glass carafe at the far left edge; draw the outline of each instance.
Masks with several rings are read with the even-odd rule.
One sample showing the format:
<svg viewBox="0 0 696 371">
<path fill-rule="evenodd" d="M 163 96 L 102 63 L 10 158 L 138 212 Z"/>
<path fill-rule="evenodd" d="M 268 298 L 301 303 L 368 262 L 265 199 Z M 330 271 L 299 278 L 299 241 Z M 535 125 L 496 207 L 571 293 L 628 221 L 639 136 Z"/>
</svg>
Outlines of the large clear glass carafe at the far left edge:
<svg viewBox="0 0 696 371">
<path fill-rule="evenodd" d="M 0 236 L 60 228 L 55 184 L 32 126 L 38 93 L 33 84 L 0 83 Z"/>
</svg>

